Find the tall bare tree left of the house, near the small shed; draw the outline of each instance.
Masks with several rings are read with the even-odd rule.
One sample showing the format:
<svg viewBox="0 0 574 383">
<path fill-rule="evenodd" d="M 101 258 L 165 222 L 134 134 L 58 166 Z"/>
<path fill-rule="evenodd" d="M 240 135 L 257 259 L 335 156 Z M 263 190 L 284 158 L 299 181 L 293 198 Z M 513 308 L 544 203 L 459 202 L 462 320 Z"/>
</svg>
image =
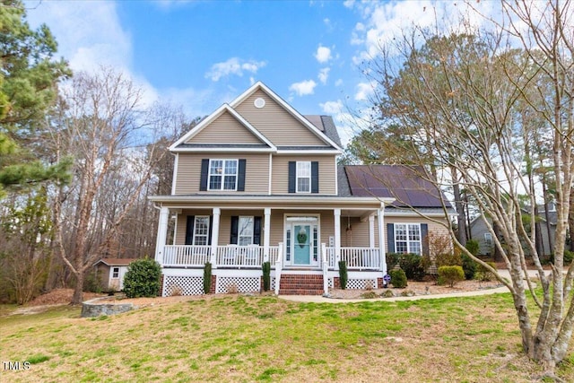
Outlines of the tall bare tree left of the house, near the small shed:
<svg viewBox="0 0 574 383">
<path fill-rule="evenodd" d="M 86 271 L 117 246 L 118 228 L 161 161 L 155 145 L 141 150 L 155 134 L 142 95 L 109 68 L 76 74 L 52 124 L 58 151 L 74 157 L 74 181 L 54 201 L 57 250 L 75 277 L 73 304 L 83 300 Z"/>
</svg>

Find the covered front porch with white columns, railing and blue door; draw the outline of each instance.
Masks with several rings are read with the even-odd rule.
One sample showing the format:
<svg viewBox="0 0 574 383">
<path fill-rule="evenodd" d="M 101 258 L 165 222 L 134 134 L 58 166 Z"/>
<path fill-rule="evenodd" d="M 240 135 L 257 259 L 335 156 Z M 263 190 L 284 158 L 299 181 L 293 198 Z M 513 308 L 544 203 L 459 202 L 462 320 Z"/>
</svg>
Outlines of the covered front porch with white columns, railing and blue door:
<svg viewBox="0 0 574 383">
<path fill-rule="evenodd" d="M 261 266 L 269 262 L 272 285 L 279 293 L 282 275 L 291 280 L 293 275 L 308 275 L 327 292 L 338 280 L 340 261 L 347 265 L 350 278 L 362 281 L 355 283 L 358 286 L 369 280 L 376 287 L 387 273 L 384 202 L 337 198 L 339 207 L 334 206 L 335 198 L 328 197 L 313 198 L 312 203 L 311 198 L 306 203 L 285 199 L 280 205 L 273 197 L 268 199 L 272 201 L 263 207 L 265 198 L 257 198 L 257 205 L 242 199 L 241 206 L 223 200 L 213 206 L 213 198 L 209 204 L 195 200 L 193 205 L 162 201 L 155 259 L 163 274 L 174 281 L 201 276 L 209 262 L 218 283 L 231 278 L 243 285 L 241 281 L 253 279 L 247 284 L 254 291 Z M 167 244 L 170 220 L 175 228 Z"/>
</svg>

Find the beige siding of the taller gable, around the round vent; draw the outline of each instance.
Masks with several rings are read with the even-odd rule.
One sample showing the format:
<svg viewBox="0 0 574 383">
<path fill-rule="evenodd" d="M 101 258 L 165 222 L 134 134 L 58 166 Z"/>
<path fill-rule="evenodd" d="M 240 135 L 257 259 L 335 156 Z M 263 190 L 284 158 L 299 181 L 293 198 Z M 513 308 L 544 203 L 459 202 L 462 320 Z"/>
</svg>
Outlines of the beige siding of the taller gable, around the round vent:
<svg viewBox="0 0 574 383">
<path fill-rule="evenodd" d="M 262 109 L 257 109 L 253 105 L 257 98 L 265 100 L 265 107 Z M 329 146 L 307 126 L 303 126 L 299 120 L 291 116 L 280 104 L 267 96 L 264 91 L 256 91 L 241 102 L 235 110 L 275 145 Z"/>
</svg>

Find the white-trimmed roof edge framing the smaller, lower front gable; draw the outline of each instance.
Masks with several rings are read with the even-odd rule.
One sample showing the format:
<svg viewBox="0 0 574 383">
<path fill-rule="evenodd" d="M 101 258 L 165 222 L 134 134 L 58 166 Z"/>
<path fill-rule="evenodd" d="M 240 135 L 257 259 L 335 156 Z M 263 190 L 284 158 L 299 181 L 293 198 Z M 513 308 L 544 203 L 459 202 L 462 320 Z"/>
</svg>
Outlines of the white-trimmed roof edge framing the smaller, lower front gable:
<svg viewBox="0 0 574 383">
<path fill-rule="evenodd" d="M 205 148 L 217 148 L 222 147 L 222 145 L 210 145 L 210 144 L 187 144 L 187 141 L 192 139 L 194 136 L 198 135 L 205 127 L 209 126 L 213 121 L 217 118 L 221 117 L 223 113 L 229 113 L 232 118 L 235 118 L 240 125 L 244 126 L 252 135 L 256 136 L 257 139 L 261 142 L 261 145 L 254 145 L 254 144 L 238 144 L 235 145 L 237 147 L 242 147 L 244 149 L 258 149 L 258 150 L 265 150 L 265 151 L 276 151 L 277 148 L 274 144 L 272 144 L 265 135 L 262 135 L 254 126 L 249 124 L 248 120 L 242 118 L 241 115 L 235 110 L 232 109 L 228 104 L 223 104 L 217 110 L 215 110 L 211 115 L 204 118 L 199 124 L 194 126 L 187 134 L 183 135 L 181 138 L 178 139 L 174 144 L 170 146 L 171 152 L 188 152 L 193 151 L 194 149 L 205 149 Z"/>
</svg>

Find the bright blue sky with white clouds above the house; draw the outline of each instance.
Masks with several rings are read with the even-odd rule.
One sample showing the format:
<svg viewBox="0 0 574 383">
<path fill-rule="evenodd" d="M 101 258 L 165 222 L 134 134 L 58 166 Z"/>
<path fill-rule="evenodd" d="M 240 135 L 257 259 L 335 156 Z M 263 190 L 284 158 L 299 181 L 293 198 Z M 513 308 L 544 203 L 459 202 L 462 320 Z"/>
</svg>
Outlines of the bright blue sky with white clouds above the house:
<svg viewBox="0 0 574 383">
<path fill-rule="evenodd" d="M 490 4 L 489 4 L 490 3 Z M 361 61 L 413 22 L 448 22 L 453 2 L 29 0 L 32 27 L 46 23 L 74 71 L 111 65 L 143 87 L 146 102 L 204 116 L 262 81 L 302 114 L 335 117 L 372 85 Z M 485 5 L 483 5 L 485 4 Z M 491 2 L 479 4 L 484 9 Z M 456 5 L 455 5 L 456 6 Z M 431 9 L 433 12 L 431 12 Z"/>
</svg>

